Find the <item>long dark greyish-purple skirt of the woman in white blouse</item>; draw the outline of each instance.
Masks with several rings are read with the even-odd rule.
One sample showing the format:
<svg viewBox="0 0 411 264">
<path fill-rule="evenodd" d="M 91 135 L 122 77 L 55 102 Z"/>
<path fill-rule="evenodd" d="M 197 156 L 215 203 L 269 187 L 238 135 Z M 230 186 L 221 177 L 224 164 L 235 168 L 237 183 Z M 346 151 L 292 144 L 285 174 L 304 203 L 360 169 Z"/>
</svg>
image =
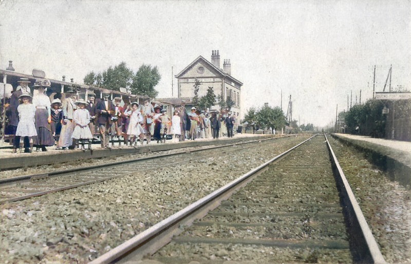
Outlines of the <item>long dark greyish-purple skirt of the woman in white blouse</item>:
<svg viewBox="0 0 411 264">
<path fill-rule="evenodd" d="M 54 146 L 54 138 L 51 134 L 50 125 L 48 124 L 47 109 L 36 109 L 34 116 L 35 130 L 37 136 L 33 137 L 34 146 Z"/>
</svg>

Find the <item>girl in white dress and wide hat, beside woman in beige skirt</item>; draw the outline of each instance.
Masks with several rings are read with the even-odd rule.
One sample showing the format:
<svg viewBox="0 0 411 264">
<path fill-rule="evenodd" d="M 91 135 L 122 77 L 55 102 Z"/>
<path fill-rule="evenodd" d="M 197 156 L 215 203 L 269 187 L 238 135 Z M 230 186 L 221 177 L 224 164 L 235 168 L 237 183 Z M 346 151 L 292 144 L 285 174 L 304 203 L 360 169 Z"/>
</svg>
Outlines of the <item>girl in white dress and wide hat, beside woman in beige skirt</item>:
<svg viewBox="0 0 411 264">
<path fill-rule="evenodd" d="M 76 106 L 78 109 L 74 111 L 73 122 L 74 122 L 74 131 L 72 134 L 73 140 L 76 140 L 76 146 L 79 144 L 81 139 L 81 149 L 85 151 L 84 141 L 88 141 L 88 149 L 91 150 L 91 139 L 93 135 L 91 134 L 88 123 L 90 123 L 90 112 L 86 109 L 86 101 L 80 99 L 76 101 Z"/>
</svg>

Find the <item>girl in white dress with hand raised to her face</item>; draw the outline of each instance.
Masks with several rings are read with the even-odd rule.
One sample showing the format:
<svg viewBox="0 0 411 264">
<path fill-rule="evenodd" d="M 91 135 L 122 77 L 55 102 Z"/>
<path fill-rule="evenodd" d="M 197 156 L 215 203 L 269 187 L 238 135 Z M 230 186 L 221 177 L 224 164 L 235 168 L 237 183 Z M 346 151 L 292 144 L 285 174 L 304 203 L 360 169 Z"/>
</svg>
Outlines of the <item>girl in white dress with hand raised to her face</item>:
<svg viewBox="0 0 411 264">
<path fill-rule="evenodd" d="M 140 110 L 138 109 L 138 103 L 133 102 L 132 109 L 124 112 L 124 115 L 129 116 L 130 119 L 130 123 L 128 124 L 127 129 L 127 135 L 130 138 L 130 147 L 133 147 L 134 143 L 134 148 L 137 148 L 137 136 L 140 137 L 140 144 L 143 145 L 145 131 L 141 124 L 144 123 L 144 118 Z"/>
</svg>

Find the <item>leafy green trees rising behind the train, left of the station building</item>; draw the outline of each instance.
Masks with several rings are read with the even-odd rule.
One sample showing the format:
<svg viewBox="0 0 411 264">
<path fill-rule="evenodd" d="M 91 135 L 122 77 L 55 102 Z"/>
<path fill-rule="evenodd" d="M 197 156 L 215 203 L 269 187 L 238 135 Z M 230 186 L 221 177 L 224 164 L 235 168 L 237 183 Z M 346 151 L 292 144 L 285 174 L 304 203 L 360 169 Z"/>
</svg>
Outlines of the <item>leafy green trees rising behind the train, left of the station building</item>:
<svg viewBox="0 0 411 264">
<path fill-rule="evenodd" d="M 154 87 L 160 82 L 161 75 L 157 66 L 141 65 L 136 73 L 129 69 L 125 62 L 116 66 L 110 66 L 107 70 L 99 73 L 91 71 L 84 77 L 86 85 L 102 87 L 110 90 L 120 91 L 121 88 L 139 95 L 156 97 L 158 91 Z"/>
</svg>

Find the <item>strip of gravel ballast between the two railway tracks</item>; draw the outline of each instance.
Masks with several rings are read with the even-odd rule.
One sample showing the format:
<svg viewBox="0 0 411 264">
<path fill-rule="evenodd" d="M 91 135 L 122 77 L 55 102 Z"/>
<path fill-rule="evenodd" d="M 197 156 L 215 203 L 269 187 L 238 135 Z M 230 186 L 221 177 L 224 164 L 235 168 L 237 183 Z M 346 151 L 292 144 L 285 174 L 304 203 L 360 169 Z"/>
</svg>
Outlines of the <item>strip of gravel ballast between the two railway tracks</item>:
<svg viewBox="0 0 411 264">
<path fill-rule="evenodd" d="M 305 138 L 192 153 L 184 165 L 135 168 L 100 184 L 1 205 L 0 259 L 86 263 Z"/>
</svg>

